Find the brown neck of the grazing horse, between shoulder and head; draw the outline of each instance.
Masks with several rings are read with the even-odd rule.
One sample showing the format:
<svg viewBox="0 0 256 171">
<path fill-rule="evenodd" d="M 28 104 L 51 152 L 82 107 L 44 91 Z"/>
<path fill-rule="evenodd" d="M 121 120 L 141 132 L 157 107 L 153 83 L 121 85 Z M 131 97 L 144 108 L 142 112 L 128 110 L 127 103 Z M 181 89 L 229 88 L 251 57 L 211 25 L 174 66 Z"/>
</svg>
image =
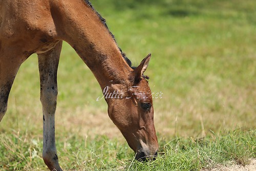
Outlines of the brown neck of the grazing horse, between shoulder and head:
<svg viewBox="0 0 256 171">
<path fill-rule="evenodd" d="M 113 83 L 128 84 L 132 69 L 90 5 L 82 1 L 62 1 L 52 14 L 55 15 L 53 19 L 56 18 L 54 22 L 59 36 L 91 69 L 102 90 Z"/>
</svg>

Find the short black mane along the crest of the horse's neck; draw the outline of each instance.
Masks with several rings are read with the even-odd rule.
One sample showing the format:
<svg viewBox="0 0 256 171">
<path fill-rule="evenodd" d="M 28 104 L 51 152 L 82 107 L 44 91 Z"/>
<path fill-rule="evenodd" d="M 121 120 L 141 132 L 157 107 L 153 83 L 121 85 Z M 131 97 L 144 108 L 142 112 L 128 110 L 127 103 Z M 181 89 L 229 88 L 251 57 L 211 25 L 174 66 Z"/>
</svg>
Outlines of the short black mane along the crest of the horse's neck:
<svg viewBox="0 0 256 171">
<path fill-rule="evenodd" d="M 86 4 L 91 7 L 93 9 L 93 11 L 97 14 L 97 16 L 99 17 L 101 23 L 105 26 L 106 29 L 108 29 L 109 31 L 109 34 L 111 35 L 111 37 L 113 38 L 113 40 L 115 41 L 116 45 L 117 45 L 117 42 L 116 42 L 116 39 L 115 39 L 115 36 L 111 33 L 111 31 L 109 30 L 108 26 L 106 25 L 106 20 L 93 8 L 91 2 L 89 0 L 84 0 L 86 2 Z M 118 45 L 117 45 L 118 47 Z M 121 52 L 121 55 L 123 57 L 123 59 L 126 61 L 126 63 L 132 68 L 132 69 L 135 69 L 136 67 L 132 67 L 132 62 L 129 58 L 126 57 L 125 53 L 122 52 L 121 48 L 119 48 L 119 51 Z"/>
</svg>

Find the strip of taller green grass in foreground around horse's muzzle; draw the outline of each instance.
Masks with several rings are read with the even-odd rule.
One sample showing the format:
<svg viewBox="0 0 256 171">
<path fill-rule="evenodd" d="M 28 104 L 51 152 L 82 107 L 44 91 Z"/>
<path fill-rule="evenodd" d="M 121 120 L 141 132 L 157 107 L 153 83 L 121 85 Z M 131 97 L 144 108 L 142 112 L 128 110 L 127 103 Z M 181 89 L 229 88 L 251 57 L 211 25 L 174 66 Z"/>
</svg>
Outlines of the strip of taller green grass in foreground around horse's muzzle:
<svg viewBox="0 0 256 171">
<path fill-rule="evenodd" d="M 57 138 L 60 164 L 65 170 L 200 170 L 216 164 L 248 164 L 255 158 L 255 130 L 236 130 L 201 138 L 160 138 L 155 161 L 138 162 L 124 142 L 99 136 L 81 138 L 75 134 Z M 45 170 L 41 158 L 42 139 L 13 132 L 1 135 L 2 170 Z"/>
</svg>

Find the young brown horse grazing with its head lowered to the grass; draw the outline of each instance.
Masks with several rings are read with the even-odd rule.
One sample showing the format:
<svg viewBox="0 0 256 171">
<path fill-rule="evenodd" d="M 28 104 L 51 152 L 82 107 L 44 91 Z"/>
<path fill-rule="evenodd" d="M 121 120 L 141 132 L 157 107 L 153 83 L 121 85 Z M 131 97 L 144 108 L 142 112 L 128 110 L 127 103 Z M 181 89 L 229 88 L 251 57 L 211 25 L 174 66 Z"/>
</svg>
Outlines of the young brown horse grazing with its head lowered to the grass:
<svg viewBox="0 0 256 171">
<path fill-rule="evenodd" d="M 108 103 L 111 120 L 135 151 L 136 159 L 157 155 L 151 90 L 144 71 L 151 55 L 136 68 L 118 48 L 105 20 L 88 0 L 0 0 L 0 121 L 20 65 L 38 54 L 44 123 L 42 158 L 61 170 L 55 147 L 57 68 L 62 40 L 91 69 Z M 121 96 L 116 96 L 121 93 Z M 113 96 L 115 94 L 115 96 Z"/>
</svg>

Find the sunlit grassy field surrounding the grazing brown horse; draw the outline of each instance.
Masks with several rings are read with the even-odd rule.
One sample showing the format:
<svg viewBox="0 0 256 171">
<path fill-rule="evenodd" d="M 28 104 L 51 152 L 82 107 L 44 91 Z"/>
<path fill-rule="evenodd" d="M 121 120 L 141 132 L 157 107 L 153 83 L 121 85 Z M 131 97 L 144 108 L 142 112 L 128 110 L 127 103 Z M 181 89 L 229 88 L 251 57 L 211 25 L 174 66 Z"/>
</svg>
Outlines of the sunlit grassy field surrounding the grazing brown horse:
<svg viewBox="0 0 256 171">
<path fill-rule="evenodd" d="M 98 82 L 63 44 L 56 146 L 65 170 L 200 170 L 256 158 L 254 0 L 92 0 L 154 98 L 159 157 L 140 163 L 107 114 Z M 37 56 L 20 67 L 0 123 L 0 170 L 47 170 Z"/>
</svg>

